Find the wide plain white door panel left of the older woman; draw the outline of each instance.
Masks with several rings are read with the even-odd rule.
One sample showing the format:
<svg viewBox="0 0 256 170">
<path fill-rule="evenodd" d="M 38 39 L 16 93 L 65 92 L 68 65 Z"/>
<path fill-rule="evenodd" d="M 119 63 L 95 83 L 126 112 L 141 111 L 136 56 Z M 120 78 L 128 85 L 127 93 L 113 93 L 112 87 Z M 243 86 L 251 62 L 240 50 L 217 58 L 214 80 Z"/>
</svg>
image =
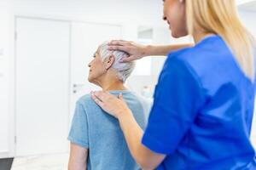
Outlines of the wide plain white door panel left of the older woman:
<svg viewBox="0 0 256 170">
<path fill-rule="evenodd" d="M 16 19 L 16 156 L 67 151 L 70 24 Z"/>
</svg>

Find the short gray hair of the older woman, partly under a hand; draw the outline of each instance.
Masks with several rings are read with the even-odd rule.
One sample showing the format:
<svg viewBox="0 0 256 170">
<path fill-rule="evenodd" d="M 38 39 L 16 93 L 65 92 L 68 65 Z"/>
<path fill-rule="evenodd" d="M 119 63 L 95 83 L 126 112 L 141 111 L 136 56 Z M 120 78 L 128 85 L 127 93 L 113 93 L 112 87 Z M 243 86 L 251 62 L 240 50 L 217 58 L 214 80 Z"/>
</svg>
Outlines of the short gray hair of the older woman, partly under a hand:
<svg viewBox="0 0 256 170">
<path fill-rule="evenodd" d="M 135 61 L 121 63 L 120 59 L 129 57 L 129 54 L 119 50 L 108 50 L 108 43 L 109 42 L 103 42 L 99 46 L 98 52 L 101 55 L 102 60 L 107 59 L 110 55 L 114 56 L 115 60 L 111 68 L 116 71 L 119 80 L 125 82 L 134 70 Z"/>
</svg>

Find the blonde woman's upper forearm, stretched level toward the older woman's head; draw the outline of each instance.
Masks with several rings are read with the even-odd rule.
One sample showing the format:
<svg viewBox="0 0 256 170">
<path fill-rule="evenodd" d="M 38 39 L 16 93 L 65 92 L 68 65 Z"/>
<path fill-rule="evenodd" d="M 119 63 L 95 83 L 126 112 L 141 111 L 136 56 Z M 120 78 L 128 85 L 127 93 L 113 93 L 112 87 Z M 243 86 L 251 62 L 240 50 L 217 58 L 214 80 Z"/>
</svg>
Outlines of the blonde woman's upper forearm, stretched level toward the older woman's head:
<svg viewBox="0 0 256 170">
<path fill-rule="evenodd" d="M 166 46 L 154 46 L 148 45 L 147 46 L 147 56 L 149 55 L 167 55 L 172 51 L 181 49 L 181 48 L 188 48 L 192 47 L 193 43 L 184 43 L 178 45 L 166 45 Z"/>
</svg>

